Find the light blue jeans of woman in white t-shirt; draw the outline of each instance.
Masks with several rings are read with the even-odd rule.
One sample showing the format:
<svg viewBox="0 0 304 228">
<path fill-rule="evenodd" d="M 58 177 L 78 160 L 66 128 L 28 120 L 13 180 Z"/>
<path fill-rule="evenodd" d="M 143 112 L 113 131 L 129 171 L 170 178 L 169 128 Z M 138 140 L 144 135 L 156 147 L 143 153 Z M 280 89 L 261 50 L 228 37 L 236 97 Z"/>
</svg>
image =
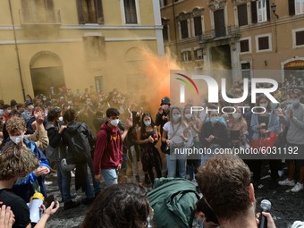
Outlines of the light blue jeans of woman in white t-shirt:
<svg viewBox="0 0 304 228">
<path fill-rule="evenodd" d="M 180 178 L 186 179 L 186 167 L 187 167 L 187 155 L 186 156 L 172 156 L 172 155 L 165 155 L 167 158 L 167 168 L 168 168 L 168 177 L 175 177 L 176 173 L 176 161 L 179 164 L 179 174 Z M 170 159 L 171 156 L 171 159 Z M 178 159 L 176 159 L 178 158 Z"/>
</svg>

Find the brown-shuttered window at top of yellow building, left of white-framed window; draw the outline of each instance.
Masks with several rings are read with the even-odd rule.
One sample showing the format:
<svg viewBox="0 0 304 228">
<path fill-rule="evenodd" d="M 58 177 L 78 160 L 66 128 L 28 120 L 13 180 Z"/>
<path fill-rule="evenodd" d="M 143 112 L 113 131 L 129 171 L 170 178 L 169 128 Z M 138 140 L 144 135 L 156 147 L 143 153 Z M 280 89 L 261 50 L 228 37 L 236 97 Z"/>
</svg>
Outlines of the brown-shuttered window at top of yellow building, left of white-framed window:
<svg viewBox="0 0 304 228">
<path fill-rule="evenodd" d="M 80 24 L 104 24 L 102 0 L 76 0 L 76 4 Z"/>
</svg>

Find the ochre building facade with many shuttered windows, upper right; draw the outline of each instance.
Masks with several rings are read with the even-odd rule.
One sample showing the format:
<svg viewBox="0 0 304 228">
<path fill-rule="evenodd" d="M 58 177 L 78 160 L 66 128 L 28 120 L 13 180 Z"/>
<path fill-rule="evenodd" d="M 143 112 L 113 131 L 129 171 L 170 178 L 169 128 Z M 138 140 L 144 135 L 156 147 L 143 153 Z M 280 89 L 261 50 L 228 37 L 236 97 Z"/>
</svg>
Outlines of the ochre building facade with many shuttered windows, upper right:
<svg viewBox="0 0 304 228">
<path fill-rule="evenodd" d="M 187 69 L 278 70 L 304 80 L 303 0 L 160 0 L 165 47 Z M 275 6 L 275 8 L 274 8 Z M 275 11 L 274 11 L 275 10 Z M 277 16 L 276 16 L 277 15 Z"/>
</svg>

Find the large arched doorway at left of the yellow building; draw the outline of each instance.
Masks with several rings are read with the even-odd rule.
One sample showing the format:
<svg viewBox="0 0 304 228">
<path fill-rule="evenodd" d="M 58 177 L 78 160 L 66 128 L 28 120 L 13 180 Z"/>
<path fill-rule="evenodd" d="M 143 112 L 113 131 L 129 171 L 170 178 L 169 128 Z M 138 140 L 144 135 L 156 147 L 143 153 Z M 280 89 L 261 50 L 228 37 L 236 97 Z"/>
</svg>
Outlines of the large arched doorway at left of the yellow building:
<svg viewBox="0 0 304 228">
<path fill-rule="evenodd" d="M 53 89 L 65 86 L 63 75 L 63 63 L 55 53 L 38 52 L 30 60 L 30 75 L 33 84 L 34 95 L 50 95 Z"/>
</svg>

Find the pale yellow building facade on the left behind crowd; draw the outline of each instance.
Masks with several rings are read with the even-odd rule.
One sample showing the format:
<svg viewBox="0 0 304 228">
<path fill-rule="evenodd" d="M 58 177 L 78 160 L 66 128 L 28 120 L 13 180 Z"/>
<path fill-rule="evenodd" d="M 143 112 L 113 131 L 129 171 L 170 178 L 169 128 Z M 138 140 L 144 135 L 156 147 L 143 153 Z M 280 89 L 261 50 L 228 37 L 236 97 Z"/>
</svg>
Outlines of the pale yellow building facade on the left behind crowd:
<svg viewBox="0 0 304 228">
<path fill-rule="evenodd" d="M 164 55 L 158 0 L 5 0 L 0 13 L 6 102 L 63 86 L 126 93 L 145 80 L 142 48 Z"/>
</svg>

